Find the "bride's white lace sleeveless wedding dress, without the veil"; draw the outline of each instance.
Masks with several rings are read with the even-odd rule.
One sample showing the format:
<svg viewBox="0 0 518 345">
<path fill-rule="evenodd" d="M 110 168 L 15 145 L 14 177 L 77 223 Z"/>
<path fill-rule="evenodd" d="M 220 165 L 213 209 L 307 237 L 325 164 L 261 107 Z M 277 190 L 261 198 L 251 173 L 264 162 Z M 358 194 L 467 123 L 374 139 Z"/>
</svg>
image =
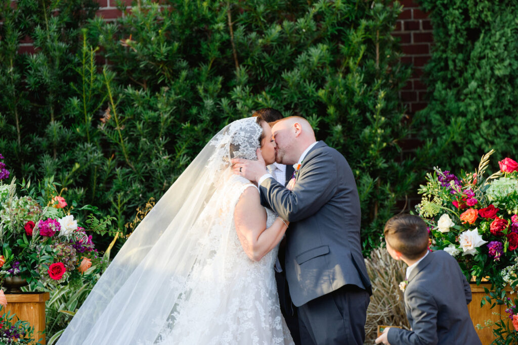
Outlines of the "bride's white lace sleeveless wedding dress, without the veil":
<svg viewBox="0 0 518 345">
<path fill-rule="evenodd" d="M 234 175 L 227 186 L 224 195 L 219 196 L 218 213 L 233 217 L 238 197 L 253 185 Z M 228 202 L 230 200 L 232 202 Z M 270 227 L 276 214 L 265 210 L 267 227 Z M 212 255 L 206 262 L 195 265 L 184 289 L 185 296 L 173 308 L 155 343 L 292 343 L 277 295 L 274 265 L 278 246 L 255 262 L 241 247 L 234 221 L 229 229 L 222 228 L 220 223 L 226 222 L 203 224 L 212 227 L 207 241 L 203 241 L 203 250 Z"/>
</svg>

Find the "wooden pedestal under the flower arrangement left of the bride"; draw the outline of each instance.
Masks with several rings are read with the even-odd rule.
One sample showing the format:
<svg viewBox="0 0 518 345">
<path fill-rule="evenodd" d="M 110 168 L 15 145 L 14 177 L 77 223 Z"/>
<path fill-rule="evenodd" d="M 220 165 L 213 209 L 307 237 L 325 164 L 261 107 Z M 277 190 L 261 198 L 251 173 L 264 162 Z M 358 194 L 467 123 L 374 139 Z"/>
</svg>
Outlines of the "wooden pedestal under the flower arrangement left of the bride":
<svg viewBox="0 0 518 345">
<path fill-rule="evenodd" d="M 6 294 L 7 307 L 4 312 L 15 313 L 19 320 L 28 321 L 34 326 L 36 341 L 42 338 L 45 344 L 45 302 L 49 299 L 48 292 L 33 292 L 23 294 Z"/>
</svg>

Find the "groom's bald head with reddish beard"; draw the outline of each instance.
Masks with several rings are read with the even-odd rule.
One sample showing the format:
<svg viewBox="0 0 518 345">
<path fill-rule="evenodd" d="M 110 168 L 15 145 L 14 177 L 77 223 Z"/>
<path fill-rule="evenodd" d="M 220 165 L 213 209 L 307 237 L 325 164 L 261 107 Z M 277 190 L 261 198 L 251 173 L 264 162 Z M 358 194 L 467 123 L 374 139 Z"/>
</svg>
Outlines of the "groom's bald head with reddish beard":
<svg viewBox="0 0 518 345">
<path fill-rule="evenodd" d="M 309 122 L 299 116 L 290 116 L 270 124 L 277 143 L 277 162 L 295 164 L 309 145 L 315 133 Z"/>
</svg>

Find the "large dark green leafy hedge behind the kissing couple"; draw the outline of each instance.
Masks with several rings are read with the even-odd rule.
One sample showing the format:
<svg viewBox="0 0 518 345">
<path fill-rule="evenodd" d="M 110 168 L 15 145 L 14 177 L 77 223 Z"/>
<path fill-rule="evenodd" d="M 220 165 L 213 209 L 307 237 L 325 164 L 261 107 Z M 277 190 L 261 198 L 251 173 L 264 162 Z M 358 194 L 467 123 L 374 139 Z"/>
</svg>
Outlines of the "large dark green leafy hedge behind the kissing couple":
<svg viewBox="0 0 518 345">
<path fill-rule="evenodd" d="M 60 66 L 53 71 L 68 76 L 61 92 L 50 82 L 41 87 L 39 104 L 22 104 L 22 97 L 2 105 L 0 130 L 9 136 L 0 139 L 0 151 L 12 173 L 55 175 L 68 188 L 65 197 L 116 216 L 125 235 L 136 207 L 159 199 L 215 132 L 272 107 L 308 118 L 318 139 L 344 154 L 361 198 L 365 253 L 378 246 L 383 223 L 399 211 L 396 200 L 414 189 L 419 170 L 398 146 L 411 129 L 397 97 L 409 70 L 391 36 L 400 6 L 388 0 L 160 4 L 136 2 L 116 22 L 93 18 L 70 33 L 67 42 L 76 46 L 56 52 L 59 65 L 50 55 L 42 62 L 25 56 L 34 67 L 20 63 L 17 79 L 0 79 L 0 87 L 19 95 L 31 93 L 26 81 L 33 75 L 46 75 L 30 72 L 42 66 Z M 4 9 L 6 22 L 9 16 Z M 50 35 L 50 27 L 43 30 Z M 19 36 L 12 37 L 16 52 Z M 70 53 L 74 58 L 65 59 Z M 104 69 L 96 65 L 99 55 L 109 62 Z M 12 76 L 2 64 L 0 75 Z M 22 109 L 27 116 L 16 117 Z"/>
</svg>

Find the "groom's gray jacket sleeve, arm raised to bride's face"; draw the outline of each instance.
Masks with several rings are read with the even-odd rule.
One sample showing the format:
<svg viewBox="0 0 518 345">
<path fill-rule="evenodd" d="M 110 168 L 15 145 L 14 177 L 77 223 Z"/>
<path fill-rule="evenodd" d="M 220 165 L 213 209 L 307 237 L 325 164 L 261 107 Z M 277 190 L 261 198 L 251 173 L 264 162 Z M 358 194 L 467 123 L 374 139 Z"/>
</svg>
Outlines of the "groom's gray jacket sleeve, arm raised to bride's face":
<svg viewBox="0 0 518 345">
<path fill-rule="evenodd" d="M 273 178 L 267 178 L 260 190 L 271 208 L 283 219 L 297 221 L 315 214 L 336 190 L 336 163 L 325 151 L 313 156 L 300 169 L 293 191 Z"/>
</svg>

